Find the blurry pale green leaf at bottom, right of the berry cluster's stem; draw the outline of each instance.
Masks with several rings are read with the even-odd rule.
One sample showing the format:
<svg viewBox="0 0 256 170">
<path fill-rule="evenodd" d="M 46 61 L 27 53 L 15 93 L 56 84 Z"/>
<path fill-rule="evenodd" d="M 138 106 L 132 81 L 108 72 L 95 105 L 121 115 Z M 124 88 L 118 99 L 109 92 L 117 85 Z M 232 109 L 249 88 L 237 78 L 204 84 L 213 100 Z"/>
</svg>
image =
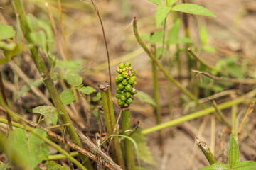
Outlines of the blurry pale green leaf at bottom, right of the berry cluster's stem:
<svg viewBox="0 0 256 170">
<path fill-rule="evenodd" d="M 148 164 L 156 164 L 156 161 L 154 157 L 152 157 L 150 149 L 147 146 L 146 137 L 142 135 L 142 133 L 139 130 L 134 132 L 134 134 L 131 137 L 137 143 L 137 146 L 139 148 L 139 157 Z"/>
</svg>

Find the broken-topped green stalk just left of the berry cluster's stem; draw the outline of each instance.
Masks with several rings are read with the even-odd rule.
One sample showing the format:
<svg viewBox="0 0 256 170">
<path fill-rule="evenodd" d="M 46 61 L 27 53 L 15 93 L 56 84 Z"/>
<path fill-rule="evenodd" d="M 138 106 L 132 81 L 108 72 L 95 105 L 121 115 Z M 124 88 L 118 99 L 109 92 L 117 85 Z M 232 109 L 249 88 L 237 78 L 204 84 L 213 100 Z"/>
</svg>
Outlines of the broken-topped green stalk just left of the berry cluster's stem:
<svg viewBox="0 0 256 170">
<path fill-rule="evenodd" d="M 117 135 L 118 134 L 117 130 L 115 130 L 114 132 L 116 120 L 114 117 L 114 108 L 112 103 L 110 85 L 104 84 L 104 85 L 100 85 L 99 87 L 100 87 L 100 94 L 102 98 L 103 111 L 105 115 L 105 124 L 107 127 L 107 133 L 108 135 L 112 135 L 112 134 Z M 119 138 L 117 136 L 113 137 L 113 140 L 111 143 L 111 151 L 113 154 L 114 161 L 117 164 L 124 166 L 124 159 L 122 157 L 121 145 L 119 143 Z"/>
</svg>

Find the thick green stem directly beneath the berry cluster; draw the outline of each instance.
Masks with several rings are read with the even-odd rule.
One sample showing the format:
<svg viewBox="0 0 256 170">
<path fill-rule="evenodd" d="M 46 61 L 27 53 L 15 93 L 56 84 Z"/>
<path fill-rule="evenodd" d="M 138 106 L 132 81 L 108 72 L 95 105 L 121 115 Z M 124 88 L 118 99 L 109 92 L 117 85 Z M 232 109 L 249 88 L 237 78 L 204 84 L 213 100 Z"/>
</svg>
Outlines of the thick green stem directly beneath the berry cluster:
<svg viewBox="0 0 256 170">
<path fill-rule="evenodd" d="M 131 110 L 130 108 L 122 108 L 122 130 L 130 130 L 131 129 Z M 124 140 L 124 155 L 125 155 L 125 163 L 127 166 L 127 170 L 135 169 L 135 161 L 134 161 L 134 152 L 132 149 L 132 141 L 125 139 Z"/>
</svg>

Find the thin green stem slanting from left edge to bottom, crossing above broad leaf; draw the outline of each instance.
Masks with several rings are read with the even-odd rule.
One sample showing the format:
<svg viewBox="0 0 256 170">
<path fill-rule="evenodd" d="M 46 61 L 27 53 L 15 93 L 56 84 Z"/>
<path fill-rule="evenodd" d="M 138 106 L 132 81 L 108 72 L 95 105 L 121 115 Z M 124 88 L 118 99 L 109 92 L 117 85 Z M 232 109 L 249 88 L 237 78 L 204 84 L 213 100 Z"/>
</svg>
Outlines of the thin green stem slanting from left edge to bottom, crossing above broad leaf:
<svg viewBox="0 0 256 170">
<path fill-rule="evenodd" d="M 3 106 L 3 108 L 6 109 L 6 111 L 9 113 L 9 115 L 11 115 L 11 117 L 14 118 L 14 120 L 17 120 L 17 121 L 22 123 L 22 124 L 14 123 L 14 125 L 18 124 L 18 128 L 23 128 L 24 130 L 33 133 L 33 135 L 36 135 L 41 140 L 43 140 L 44 142 L 48 143 L 48 145 L 50 145 L 50 146 L 54 147 L 55 149 L 57 149 L 58 152 L 60 152 L 61 154 L 64 154 L 65 157 L 70 159 L 70 161 L 73 162 L 74 164 L 76 164 L 80 169 L 87 170 L 84 166 L 82 166 L 82 164 L 80 164 L 80 162 L 78 162 L 75 158 L 73 158 L 70 154 L 68 154 L 68 152 L 65 152 L 65 150 L 63 150 L 61 147 L 59 147 L 57 144 L 55 144 L 55 142 L 52 142 L 47 137 L 43 137 L 40 133 L 36 132 L 34 130 L 34 128 L 31 128 L 30 126 L 28 126 L 25 123 L 23 123 L 22 120 L 16 116 L 16 113 L 11 111 L 11 109 L 8 106 L 6 106 L 2 96 L 0 96 L 0 104 L 1 104 L 1 106 Z"/>
</svg>

